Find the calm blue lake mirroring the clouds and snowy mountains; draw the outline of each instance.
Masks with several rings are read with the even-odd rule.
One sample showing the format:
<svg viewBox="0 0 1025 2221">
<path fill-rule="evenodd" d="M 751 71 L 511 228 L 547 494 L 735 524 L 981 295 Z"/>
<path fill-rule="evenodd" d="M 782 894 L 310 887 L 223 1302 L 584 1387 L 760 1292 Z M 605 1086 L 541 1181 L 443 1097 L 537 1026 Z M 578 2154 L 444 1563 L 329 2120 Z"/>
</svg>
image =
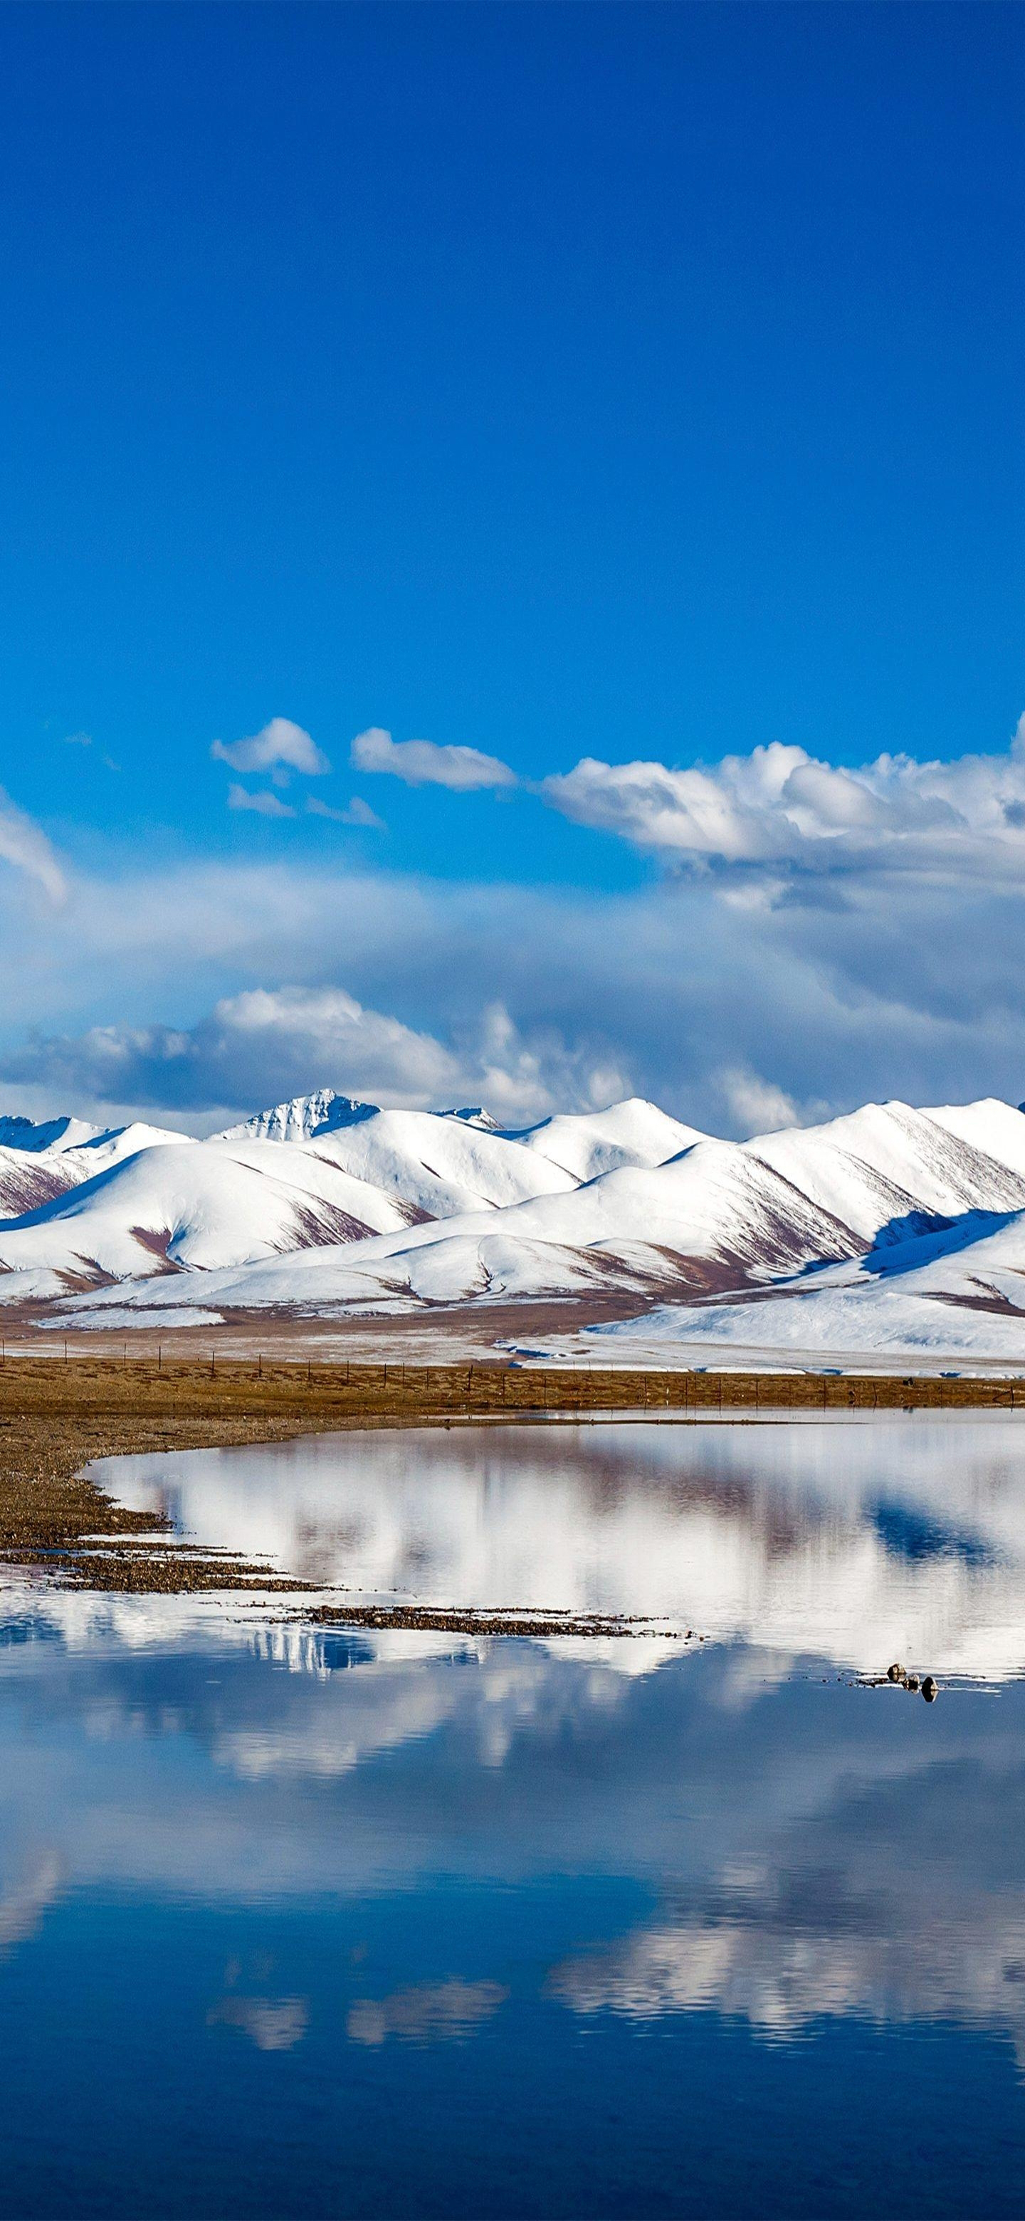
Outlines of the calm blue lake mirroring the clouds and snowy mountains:
<svg viewBox="0 0 1025 2221">
<path fill-rule="evenodd" d="M 2 2214 L 1021 2212 L 1021 1419 L 104 1479 L 324 1588 L 648 1628 L 311 1632 L 11 1577 Z M 892 1657 L 934 1706 L 856 1686 Z"/>
</svg>

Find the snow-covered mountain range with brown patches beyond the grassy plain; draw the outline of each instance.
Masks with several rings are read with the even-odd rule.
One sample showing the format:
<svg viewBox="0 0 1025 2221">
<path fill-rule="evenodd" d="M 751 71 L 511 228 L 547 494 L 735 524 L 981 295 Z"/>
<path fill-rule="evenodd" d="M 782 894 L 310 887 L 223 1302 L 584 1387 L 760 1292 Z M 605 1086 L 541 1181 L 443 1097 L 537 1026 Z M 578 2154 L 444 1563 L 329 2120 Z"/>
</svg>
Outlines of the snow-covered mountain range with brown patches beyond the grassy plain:
<svg viewBox="0 0 1025 2221">
<path fill-rule="evenodd" d="M 473 1310 L 515 1344 L 544 1302 L 561 1357 L 1025 1364 L 1025 1115 L 996 1099 L 748 1142 L 639 1099 L 515 1130 L 319 1088 L 209 1139 L 9 1115 L 0 1213 L 0 1306 L 42 1324 Z"/>
</svg>

